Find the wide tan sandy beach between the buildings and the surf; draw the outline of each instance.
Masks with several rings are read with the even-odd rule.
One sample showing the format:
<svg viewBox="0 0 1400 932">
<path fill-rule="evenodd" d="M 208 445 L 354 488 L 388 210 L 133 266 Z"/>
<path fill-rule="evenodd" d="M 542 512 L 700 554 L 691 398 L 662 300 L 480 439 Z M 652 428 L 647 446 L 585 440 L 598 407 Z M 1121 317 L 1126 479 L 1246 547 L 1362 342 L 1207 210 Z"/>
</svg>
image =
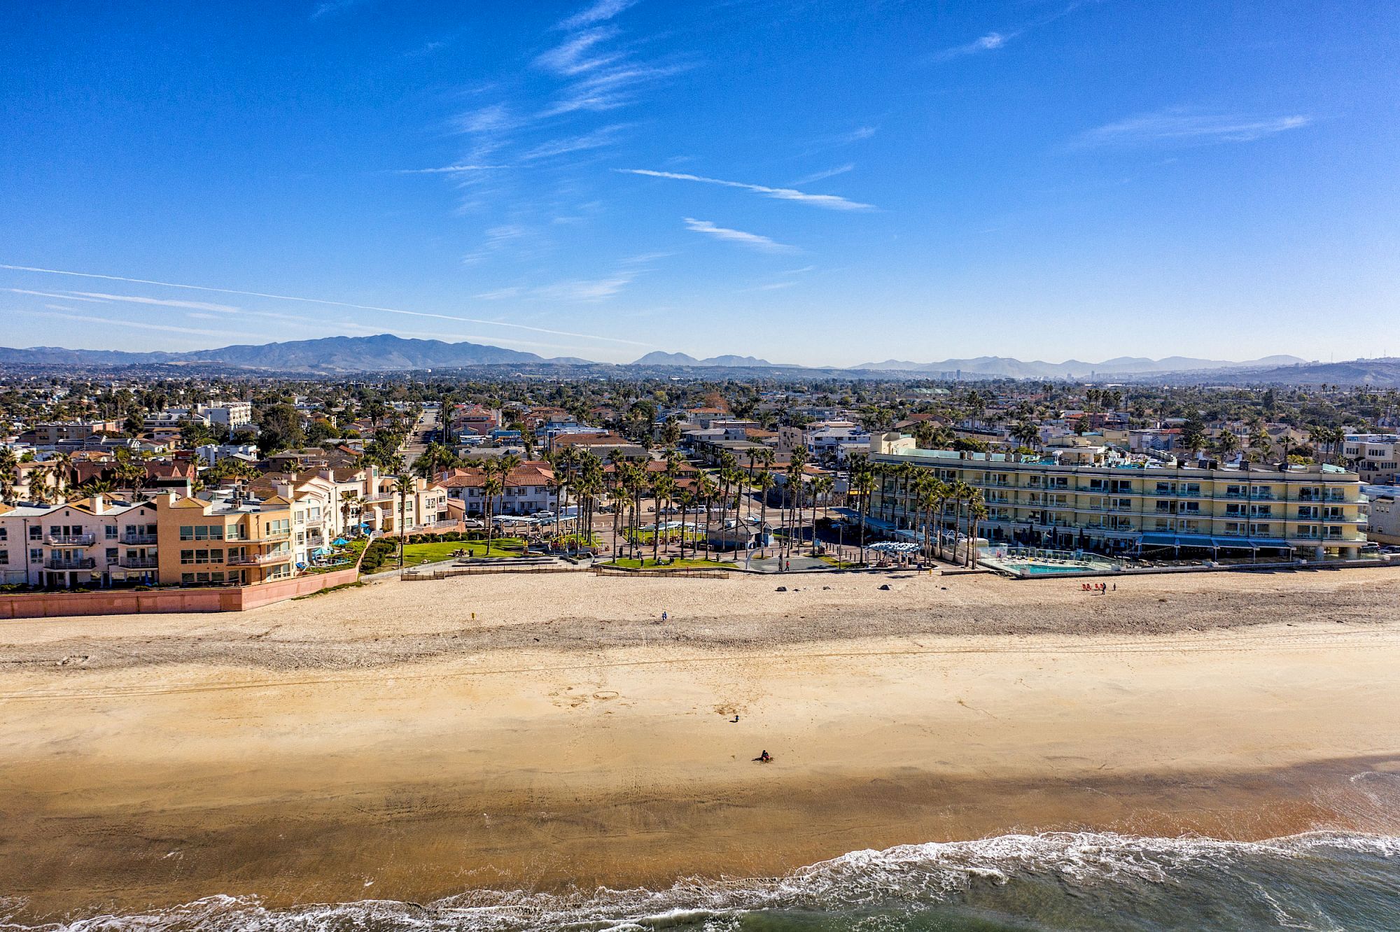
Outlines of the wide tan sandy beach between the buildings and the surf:
<svg viewBox="0 0 1400 932">
<path fill-rule="evenodd" d="M 1400 770 L 1397 606 L 1400 570 L 1105 596 L 568 574 L 6 621 L 0 896 L 426 901 L 1009 831 L 1400 833 L 1362 792 Z"/>
</svg>

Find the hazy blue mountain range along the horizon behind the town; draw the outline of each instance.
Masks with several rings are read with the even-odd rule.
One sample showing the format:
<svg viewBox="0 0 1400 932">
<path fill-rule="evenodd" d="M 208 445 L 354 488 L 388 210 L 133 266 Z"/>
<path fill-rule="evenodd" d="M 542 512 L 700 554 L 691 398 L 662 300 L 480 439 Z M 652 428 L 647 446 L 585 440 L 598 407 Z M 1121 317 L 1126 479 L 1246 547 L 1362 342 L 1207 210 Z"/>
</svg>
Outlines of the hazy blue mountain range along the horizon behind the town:
<svg viewBox="0 0 1400 932">
<path fill-rule="evenodd" d="M 126 365 L 214 365 L 269 372 L 392 372 L 431 368 L 466 368 L 477 365 L 605 365 L 575 357 L 546 358 L 535 353 L 505 350 L 482 343 L 445 343 L 412 340 L 389 333 L 364 337 L 322 337 L 260 346 L 239 344 L 190 353 L 125 353 L 119 350 L 67 350 L 38 346 L 0 347 L 0 367 L 126 367 Z M 1352 360 L 1348 362 L 1309 362 L 1294 355 L 1268 355 L 1245 362 L 1173 355 L 1162 360 L 1117 357 L 1103 362 L 1068 360 L 1065 362 L 1029 362 L 1000 355 L 981 355 L 939 362 L 886 360 L 841 368 L 805 368 L 769 362 L 752 355 L 713 355 L 696 358 L 685 353 L 648 353 L 629 367 L 637 368 L 713 368 L 713 369 L 783 369 L 784 372 L 820 372 L 840 375 L 903 374 L 910 376 L 983 378 L 1088 378 L 1123 379 L 1170 374 L 1183 381 L 1207 382 L 1336 382 L 1344 385 L 1400 385 L 1400 360 Z"/>
</svg>

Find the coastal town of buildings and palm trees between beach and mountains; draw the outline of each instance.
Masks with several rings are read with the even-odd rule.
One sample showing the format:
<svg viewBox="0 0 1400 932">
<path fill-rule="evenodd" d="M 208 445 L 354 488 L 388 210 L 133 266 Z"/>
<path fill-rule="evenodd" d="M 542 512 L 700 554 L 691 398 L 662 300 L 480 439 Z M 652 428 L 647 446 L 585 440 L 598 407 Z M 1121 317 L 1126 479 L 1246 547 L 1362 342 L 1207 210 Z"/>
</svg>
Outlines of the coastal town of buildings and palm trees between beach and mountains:
<svg viewBox="0 0 1400 932">
<path fill-rule="evenodd" d="M 1397 431 L 1396 392 L 1336 386 L 11 376 L 0 592 L 1376 565 Z"/>
</svg>

